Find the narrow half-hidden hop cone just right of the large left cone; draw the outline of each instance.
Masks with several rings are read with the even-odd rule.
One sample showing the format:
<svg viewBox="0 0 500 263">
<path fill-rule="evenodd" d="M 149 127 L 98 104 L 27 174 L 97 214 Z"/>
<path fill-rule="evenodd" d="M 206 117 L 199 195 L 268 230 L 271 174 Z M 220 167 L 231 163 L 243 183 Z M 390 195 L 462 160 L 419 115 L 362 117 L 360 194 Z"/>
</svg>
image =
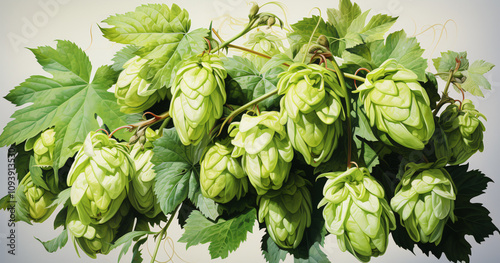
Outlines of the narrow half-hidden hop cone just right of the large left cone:
<svg viewBox="0 0 500 263">
<path fill-rule="evenodd" d="M 135 174 L 130 181 L 128 199 L 132 206 L 141 214 L 150 218 L 156 217 L 160 212 L 160 204 L 154 194 L 154 179 L 156 173 L 153 170 L 153 144 L 159 136 L 152 129 L 146 130 L 146 143 L 134 144 L 130 151 L 130 158 L 134 160 Z"/>
</svg>

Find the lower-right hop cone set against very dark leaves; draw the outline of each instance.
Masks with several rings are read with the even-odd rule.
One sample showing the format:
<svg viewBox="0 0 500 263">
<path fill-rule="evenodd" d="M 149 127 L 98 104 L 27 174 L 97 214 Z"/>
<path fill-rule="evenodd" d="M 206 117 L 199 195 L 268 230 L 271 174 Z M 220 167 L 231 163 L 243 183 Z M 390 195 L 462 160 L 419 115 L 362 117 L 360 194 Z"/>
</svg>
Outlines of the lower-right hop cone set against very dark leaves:
<svg viewBox="0 0 500 263">
<path fill-rule="evenodd" d="M 455 185 L 445 169 L 412 168 L 403 175 L 391 207 L 400 215 L 411 239 L 438 245 L 448 218 L 455 221 L 455 198 Z"/>
</svg>

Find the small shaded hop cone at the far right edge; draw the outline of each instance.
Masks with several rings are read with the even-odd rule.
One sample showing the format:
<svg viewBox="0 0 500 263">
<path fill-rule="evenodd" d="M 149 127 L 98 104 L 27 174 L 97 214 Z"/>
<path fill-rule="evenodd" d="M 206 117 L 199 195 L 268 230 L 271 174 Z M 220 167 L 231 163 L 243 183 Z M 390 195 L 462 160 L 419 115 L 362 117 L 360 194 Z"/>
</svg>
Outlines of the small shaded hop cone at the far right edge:
<svg viewBox="0 0 500 263">
<path fill-rule="evenodd" d="M 449 105 L 439 122 L 443 128 L 451 151 L 449 164 L 457 165 L 467 161 L 477 151 L 484 149 L 484 124 L 479 117 L 486 117 L 476 110 L 472 101 L 465 99 L 462 107 L 456 104 Z"/>
</svg>

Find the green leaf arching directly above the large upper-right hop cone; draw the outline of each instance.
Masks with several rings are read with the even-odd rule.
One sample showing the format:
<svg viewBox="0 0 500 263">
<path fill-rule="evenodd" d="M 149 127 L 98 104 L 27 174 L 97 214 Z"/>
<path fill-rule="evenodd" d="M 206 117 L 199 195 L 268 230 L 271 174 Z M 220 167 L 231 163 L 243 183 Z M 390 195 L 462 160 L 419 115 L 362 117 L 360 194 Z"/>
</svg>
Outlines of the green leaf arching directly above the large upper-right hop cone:
<svg viewBox="0 0 500 263">
<path fill-rule="evenodd" d="M 394 58 L 405 68 L 417 74 L 419 81 L 426 81 L 427 61 L 422 58 L 424 50 L 415 37 L 407 37 L 403 30 L 387 36 L 385 42 L 378 40 L 347 49 L 342 54 L 347 64 L 356 64 L 369 70 L 376 69 L 387 59 Z"/>
</svg>

